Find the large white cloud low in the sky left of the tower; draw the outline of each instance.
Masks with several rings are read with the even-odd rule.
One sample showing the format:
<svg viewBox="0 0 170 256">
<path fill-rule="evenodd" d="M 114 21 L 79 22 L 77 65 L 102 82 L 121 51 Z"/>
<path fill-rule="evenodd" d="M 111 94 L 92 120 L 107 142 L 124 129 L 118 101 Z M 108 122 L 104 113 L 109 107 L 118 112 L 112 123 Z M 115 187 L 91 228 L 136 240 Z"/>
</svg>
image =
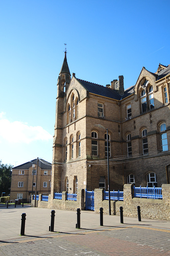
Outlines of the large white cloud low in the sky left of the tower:
<svg viewBox="0 0 170 256">
<path fill-rule="evenodd" d="M 0 113 L 0 116 L 4 115 Z M 41 126 L 28 126 L 19 121 L 10 122 L 7 119 L 0 120 L 0 138 L 12 143 L 27 143 L 43 140 L 48 141 L 53 138 L 49 132 Z"/>
</svg>

